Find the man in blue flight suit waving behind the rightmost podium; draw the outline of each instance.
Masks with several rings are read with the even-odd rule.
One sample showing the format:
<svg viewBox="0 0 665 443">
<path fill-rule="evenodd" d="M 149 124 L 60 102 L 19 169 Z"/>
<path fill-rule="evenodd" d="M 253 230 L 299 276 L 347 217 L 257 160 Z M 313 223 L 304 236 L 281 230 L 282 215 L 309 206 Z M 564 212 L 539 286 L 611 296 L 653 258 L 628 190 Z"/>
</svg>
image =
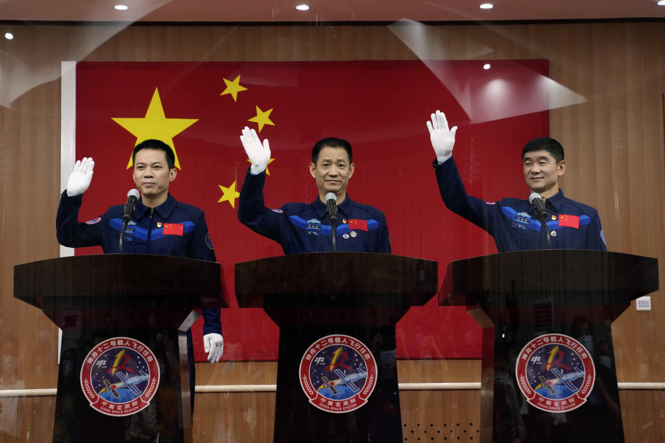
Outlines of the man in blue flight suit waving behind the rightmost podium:
<svg viewBox="0 0 665 443">
<path fill-rule="evenodd" d="M 522 150 L 526 185 L 540 194 L 547 210 L 544 229 L 529 201 L 483 201 L 467 195 L 452 157 L 457 127 L 449 129 L 441 111 L 431 117 L 427 127 L 436 153 L 434 172 L 445 206 L 492 235 L 499 252 L 548 248 L 548 231 L 551 248 L 607 251 L 598 211 L 567 199 L 558 188 L 558 179 L 566 171 L 558 141 L 535 138 Z"/>
</svg>

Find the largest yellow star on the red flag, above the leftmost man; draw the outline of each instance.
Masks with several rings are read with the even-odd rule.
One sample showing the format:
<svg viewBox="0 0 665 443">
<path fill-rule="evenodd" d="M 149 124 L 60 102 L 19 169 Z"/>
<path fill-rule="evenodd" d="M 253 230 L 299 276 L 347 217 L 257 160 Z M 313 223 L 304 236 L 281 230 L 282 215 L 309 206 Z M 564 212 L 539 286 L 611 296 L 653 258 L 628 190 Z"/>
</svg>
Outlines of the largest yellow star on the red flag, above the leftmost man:
<svg viewBox="0 0 665 443">
<path fill-rule="evenodd" d="M 157 138 L 173 148 L 175 155 L 175 167 L 180 168 L 180 161 L 178 154 L 175 152 L 175 145 L 173 144 L 173 137 L 177 136 L 185 129 L 197 122 L 198 118 L 166 118 L 164 115 L 164 108 L 161 106 L 161 99 L 159 98 L 159 91 L 154 89 L 152 100 L 148 106 L 148 111 L 145 111 L 143 118 L 113 118 L 113 121 L 127 129 L 133 136 L 136 136 L 136 143 L 138 145 L 144 140 L 149 138 Z M 127 169 L 132 168 L 132 156 L 127 163 Z"/>
</svg>

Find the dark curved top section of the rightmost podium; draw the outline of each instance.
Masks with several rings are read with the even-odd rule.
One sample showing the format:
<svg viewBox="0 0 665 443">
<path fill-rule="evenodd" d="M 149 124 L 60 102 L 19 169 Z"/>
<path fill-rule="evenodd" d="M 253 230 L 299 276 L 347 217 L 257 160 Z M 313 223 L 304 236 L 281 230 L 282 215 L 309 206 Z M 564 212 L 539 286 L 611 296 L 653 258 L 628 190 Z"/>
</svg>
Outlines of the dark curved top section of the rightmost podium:
<svg viewBox="0 0 665 443">
<path fill-rule="evenodd" d="M 516 251 L 448 265 L 439 305 L 470 305 L 492 293 L 614 293 L 632 300 L 658 289 L 658 260 L 605 251 Z"/>
</svg>

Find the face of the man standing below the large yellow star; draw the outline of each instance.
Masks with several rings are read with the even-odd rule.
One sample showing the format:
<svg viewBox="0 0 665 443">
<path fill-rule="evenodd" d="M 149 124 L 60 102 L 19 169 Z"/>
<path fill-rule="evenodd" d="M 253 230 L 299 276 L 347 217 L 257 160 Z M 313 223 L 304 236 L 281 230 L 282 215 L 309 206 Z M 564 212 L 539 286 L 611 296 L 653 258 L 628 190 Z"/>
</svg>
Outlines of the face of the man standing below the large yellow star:
<svg viewBox="0 0 665 443">
<path fill-rule="evenodd" d="M 134 159 L 134 183 L 141 195 L 154 199 L 168 192 L 168 183 L 175 180 L 176 169 L 168 169 L 166 152 L 143 149 Z"/>
</svg>

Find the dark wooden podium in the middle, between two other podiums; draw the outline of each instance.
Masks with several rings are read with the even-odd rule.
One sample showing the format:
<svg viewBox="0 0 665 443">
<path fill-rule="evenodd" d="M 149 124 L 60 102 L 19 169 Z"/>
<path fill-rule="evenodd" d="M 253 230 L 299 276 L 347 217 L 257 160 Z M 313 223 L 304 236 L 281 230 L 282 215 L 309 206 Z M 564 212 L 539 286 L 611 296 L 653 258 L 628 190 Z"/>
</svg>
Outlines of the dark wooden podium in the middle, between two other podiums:
<svg viewBox="0 0 665 443">
<path fill-rule="evenodd" d="M 236 264 L 238 305 L 263 307 L 280 328 L 274 442 L 402 442 L 395 324 L 432 298 L 436 285 L 436 262 L 389 254 L 306 253 Z M 355 396 L 362 395 L 372 375 L 344 362 L 353 354 L 338 346 L 346 336 L 349 346 L 371 352 L 378 371 L 366 404 L 332 412 L 355 398 L 338 396 L 359 388 Z M 337 354 L 318 353 L 326 340 Z M 364 356 L 369 372 L 372 359 Z M 303 364 L 318 375 L 309 377 Z"/>
</svg>

